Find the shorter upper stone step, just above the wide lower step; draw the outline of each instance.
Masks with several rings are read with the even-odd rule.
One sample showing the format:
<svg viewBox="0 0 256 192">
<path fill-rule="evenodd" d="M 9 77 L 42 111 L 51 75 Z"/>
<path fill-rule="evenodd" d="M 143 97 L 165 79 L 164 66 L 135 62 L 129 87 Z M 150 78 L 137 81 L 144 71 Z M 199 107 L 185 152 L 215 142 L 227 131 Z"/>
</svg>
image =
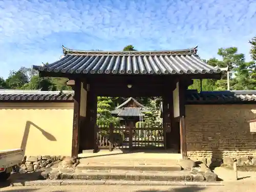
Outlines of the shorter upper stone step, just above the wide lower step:
<svg viewBox="0 0 256 192">
<path fill-rule="evenodd" d="M 166 165 L 166 164 L 120 164 L 120 163 L 88 163 L 78 164 L 76 169 L 84 170 L 154 170 L 154 171 L 175 171 L 181 170 L 179 165 Z"/>
</svg>

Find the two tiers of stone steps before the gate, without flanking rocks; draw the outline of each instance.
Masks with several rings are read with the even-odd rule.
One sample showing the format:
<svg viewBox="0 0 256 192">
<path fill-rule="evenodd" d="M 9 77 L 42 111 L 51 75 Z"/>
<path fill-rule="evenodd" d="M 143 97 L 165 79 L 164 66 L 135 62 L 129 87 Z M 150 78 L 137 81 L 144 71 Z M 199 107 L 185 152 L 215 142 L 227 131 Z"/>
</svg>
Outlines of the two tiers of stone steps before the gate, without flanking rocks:
<svg viewBox="0 0 256 192">
<path fill-rule="evenodd" d="M 204 181 L 196 169 L 183 170 L 175 159 L 82 158 L 73 169 L 59 169 L 59 179 Z M 195 173 L 195 171 L 197 173 Z M 51 175 L 50 175 L 51 178 Z M 210 180 L 212 181 L 212 179 Z"/>
</svg>

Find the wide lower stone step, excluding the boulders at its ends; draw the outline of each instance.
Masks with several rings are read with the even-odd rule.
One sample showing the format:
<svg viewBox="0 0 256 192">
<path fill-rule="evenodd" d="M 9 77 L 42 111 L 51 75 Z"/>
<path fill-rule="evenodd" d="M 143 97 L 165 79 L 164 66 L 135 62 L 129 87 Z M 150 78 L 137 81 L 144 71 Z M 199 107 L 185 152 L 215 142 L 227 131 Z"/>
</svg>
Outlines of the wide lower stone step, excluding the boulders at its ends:
<svg viewBox="0 0 256 192">
<path fill-rule="evenodd" d="M 52 173 L 56 174 L 56 173 Z M 51 177 L 50 178 L 54 178 Z M 136 171 L 136 170 L 76 170 L 74 173 L 61 173 L 59 179 L 86 180 L 152 180 L 152 181 L 203 181 L 203 176 L 191 175 L 189 171 Z"/>
</svg>

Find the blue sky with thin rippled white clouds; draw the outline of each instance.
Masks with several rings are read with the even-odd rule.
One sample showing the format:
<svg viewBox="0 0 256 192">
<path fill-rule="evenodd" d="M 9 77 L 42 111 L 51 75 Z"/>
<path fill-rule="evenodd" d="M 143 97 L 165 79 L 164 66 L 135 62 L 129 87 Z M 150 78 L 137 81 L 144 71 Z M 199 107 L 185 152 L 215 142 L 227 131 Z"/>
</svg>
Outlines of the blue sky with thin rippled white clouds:
<svg viewBox="0 0 256 192">
<path fill-rule="evenodd" d="M 0 0 L 0 76 L 82 50 L 172 50 L 201 58 L 236 46 L 249 60 L 255 0 Z"/>
</svg>

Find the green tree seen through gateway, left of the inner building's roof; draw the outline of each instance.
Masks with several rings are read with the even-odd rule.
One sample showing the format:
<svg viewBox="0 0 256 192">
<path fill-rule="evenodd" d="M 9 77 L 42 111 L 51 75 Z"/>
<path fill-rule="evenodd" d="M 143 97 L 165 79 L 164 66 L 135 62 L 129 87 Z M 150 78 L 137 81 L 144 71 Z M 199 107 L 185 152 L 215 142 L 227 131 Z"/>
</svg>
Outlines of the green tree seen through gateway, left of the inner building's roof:
<svg viewBox="0 0 256 192">
<path fill-rule="evenodd" d="M 97 103 L 97 123 L 98 124 L 109 124 L 117 123 L 119 118 L 111 115 L 111 111 L 114 110 L 115 106 L 110 97 L 98 97 Z"/>
</svg>

